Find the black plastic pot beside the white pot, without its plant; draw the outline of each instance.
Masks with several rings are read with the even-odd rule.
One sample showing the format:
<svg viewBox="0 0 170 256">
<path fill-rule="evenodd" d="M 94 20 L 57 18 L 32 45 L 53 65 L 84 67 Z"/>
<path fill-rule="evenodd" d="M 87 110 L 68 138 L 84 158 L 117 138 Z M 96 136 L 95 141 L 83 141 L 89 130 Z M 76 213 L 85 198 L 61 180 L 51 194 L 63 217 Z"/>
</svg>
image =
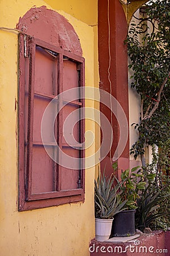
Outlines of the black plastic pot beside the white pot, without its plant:
<svg viewBox="0 0 170 256">
<path fill-rule="evenodd" d="M 135 234 L 135 210 L 124 210 L 114 216 L 111 237 L 129 237 Z"/>
</svg>

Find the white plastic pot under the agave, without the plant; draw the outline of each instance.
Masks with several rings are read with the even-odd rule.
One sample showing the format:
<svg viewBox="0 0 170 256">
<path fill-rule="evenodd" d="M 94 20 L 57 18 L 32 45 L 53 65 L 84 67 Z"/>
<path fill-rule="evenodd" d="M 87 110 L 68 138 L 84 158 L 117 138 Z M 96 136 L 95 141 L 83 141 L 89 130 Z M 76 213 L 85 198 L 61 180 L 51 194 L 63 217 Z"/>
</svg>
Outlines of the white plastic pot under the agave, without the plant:
<svg viewBox="0 0 170 256">
<path fill-rule="evenodd" d="M 109 236 L 111 235 L 112 222 L 113 218 L 95 218 L 95 233 L 97 241 L 104 242 L 109 239 Z"/>
</svg>

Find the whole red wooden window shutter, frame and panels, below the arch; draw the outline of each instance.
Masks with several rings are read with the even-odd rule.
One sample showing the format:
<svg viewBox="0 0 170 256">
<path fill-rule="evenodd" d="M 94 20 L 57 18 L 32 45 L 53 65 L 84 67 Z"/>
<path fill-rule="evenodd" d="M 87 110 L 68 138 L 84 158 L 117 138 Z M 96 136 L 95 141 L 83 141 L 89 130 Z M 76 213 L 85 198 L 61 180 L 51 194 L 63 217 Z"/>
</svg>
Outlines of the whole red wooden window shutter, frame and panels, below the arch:
<svg viewBox="0 0 170 256">
<path fill-rule="evenodd" d="M 84 134 L 84 119 L 79 109 L 84 100 L 67 102 L 52 123 L 55 104 L 46 122 L 45 146 L 41 138 L 41 120 L 46 107 L 58 95 L 71 88 L 84 86 L 84 59 L 42 40 L 20 35 L 20 77 L 19 77 L 19 210 L 50 207 L 84 200 L 84 170 L 79 159 L 84 158 L 81 148 Z M 77 90 L 78 92 L 78 90 Z M 54 100 L 54 98 L 56 100 Z M 77 119 L 73 133 L 77 143 L 68 144 L 63 125 L 68 115 L 76 110 Z M 67 127 L 70 129 L 70 127 Z M 76 170 L 62 167 L 58 161 L 58 147 L 50 136 L 54 135 L 58 147 L 65 154 L 75 158 Z"/>
</svg>

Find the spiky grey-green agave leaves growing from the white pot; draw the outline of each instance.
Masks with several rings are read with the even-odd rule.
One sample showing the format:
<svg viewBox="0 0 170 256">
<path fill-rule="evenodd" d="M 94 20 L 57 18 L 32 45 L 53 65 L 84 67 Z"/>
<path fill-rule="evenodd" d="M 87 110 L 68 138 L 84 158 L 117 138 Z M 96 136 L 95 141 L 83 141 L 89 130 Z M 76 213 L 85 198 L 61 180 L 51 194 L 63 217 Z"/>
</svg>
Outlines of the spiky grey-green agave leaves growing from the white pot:
<svg viewBox="0 0 170 256">
<path fill-rule="evenodd" d="M 108 179 L 105 172 L 95 180 L 95 217 L 113 218 L 115 214 L 125 210 L 127 200 L 121 201 L 121 183 L 117 184 L 116 177 L 112 174 Z"/>
</svg>

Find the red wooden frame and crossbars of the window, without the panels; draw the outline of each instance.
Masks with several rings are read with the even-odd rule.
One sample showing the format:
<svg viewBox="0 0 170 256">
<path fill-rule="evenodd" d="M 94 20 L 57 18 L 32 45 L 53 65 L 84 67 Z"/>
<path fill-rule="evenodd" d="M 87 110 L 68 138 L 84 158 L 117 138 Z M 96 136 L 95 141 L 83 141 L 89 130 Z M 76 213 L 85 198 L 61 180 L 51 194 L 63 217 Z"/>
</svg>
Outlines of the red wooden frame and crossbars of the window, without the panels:
<svg viewBox="0 0 170 256">
<path fill-rule="evenodd" d="M 57 56 L 57 88 L 55 95 L 37 92 L 34 90 L 35 86 L 35 52 L 36 46 L 42 47 L 46 51 L 54 52 Z M 64 51 L 59 47 L 52 46 L 42 40 L 31 38 L 29 36 L 19 35 L 19 211 L 37 209 L 44 207 L 51 207 L 59 204 L 72 203 L 77 201 L 84 201 L 85 192 L 85 176 L 84 163 L 81 170 L 79 170 L 80 185 L 77 189 L 61 190 L 61 175 L 59 174 L 59 166 L 55 163 L 56 177 L 54 178 L 55 191 L 45 193 L 32 193 L 32 147 L 33 144 L 42 146 L 41 142 L 33 142 L 33 97 L 38 95 L 40 97 L 54 98 L 62 92 L 63 84 L 63 56 L 78 63 L 80 72 L 79 86 L 84 86 L 84 58 L 73 53 Z M 26 69 L 29 69 L 29 76 L 26 75 Z M 27 81 L 28 80 L 28 81 Z M 27 143 L 24 138 L 24 106 L 25 106 L 25 82 L 28 82 L 28 125 L 27 125 Z M 72 102 L 79 107 L 84 107 L 84 99 L 79 102 Z M 63 104 L 60 101 L 59 104 Z M 62 147 L 62 111 L 58 115 L 58 122 L 56 124 L 56 138 L 59 147 Z M 84 119 L 80 121 L 80 141 L 84 136 Z M 54 146 L 52 143 L 49 146 Z M 25 150 L 26 147 L 26 150 Z M 26 155 L 26 156 L 25 156 Z M 80 158 L 84 158 L 84 150 L 80 150 Z"/>
</svg>

